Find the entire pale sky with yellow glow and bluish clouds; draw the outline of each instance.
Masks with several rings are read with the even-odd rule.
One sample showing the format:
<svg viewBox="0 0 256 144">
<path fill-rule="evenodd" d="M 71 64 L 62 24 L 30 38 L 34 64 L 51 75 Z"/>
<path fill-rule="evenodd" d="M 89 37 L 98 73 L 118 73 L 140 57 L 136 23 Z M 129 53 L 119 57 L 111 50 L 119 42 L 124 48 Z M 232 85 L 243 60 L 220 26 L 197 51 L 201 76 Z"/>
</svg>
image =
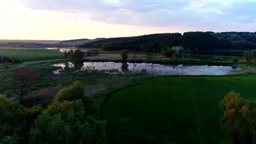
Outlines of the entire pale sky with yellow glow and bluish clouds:
<svg viewBox="0 0 256 144">
<path fill-rule="evenodd" d="M 256 0 L 1 0 L 0 39 L 256 32 Z"/>
</svg>

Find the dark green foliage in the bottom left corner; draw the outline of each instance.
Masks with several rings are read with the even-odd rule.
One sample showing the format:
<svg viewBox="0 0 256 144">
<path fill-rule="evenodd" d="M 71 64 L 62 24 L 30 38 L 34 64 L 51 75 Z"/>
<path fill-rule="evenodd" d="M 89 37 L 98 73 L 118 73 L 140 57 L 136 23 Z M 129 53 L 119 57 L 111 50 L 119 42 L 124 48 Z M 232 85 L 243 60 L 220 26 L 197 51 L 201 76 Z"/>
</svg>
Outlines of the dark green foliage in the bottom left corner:
<svg viewBox="0 0 256 144">
<path fill-rule="evenodd" d="M 18 101 L 0 95 L 0 143 L 26 141 L 26 133 L 41 111 L 40 106 L 28 109 Z"/>
</svg>

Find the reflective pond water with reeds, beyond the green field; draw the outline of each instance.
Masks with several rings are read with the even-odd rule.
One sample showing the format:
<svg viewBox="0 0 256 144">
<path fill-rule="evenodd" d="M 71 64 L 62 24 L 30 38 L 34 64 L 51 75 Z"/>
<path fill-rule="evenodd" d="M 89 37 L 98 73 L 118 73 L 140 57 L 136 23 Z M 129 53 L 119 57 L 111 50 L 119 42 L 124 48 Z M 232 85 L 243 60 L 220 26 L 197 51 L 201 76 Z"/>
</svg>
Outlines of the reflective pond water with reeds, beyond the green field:
<svg viewBox="0 0 256 144">
<path fill-rule="evenodd" d="M 66 69 L 72 73 L 147 73 L 150 75 L 182 75 L 182 65 L 162 65 L 152 63 L 114 63 L 114 62 L 85 62 L 78 67 L 75 64 L 54 64 L 61 69 L 54 70 L 54 74 L 65 73 Z M 184 65 L 183 75 L 228 75 L 241 71 L 241 68 L 233 69 L 230 66 L 208 66 L 208 65 Z"/>
</svg>

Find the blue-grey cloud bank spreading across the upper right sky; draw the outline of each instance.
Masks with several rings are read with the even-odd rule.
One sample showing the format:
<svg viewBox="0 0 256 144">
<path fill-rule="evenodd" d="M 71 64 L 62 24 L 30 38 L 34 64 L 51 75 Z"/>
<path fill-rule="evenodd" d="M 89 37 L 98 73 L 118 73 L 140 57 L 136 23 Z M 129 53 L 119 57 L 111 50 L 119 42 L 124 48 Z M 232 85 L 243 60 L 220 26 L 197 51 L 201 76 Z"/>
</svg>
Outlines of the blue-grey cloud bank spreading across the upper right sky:
<svg viewBox="0 0 256 144">
<path fill-rule="evenodd" d="M 247 31 L 255 0 L 19 0 L 27 8 L 87 15 L 92 21 L 202 31 Z M 207 30 L 208 29 L 208 30 Z M 226 30 L 225 30 L 226 29 Z M 254 27 L 254 31 L 256 26 Z M 251 29 L 253 31 L 253 29 Z"/>
</svg>

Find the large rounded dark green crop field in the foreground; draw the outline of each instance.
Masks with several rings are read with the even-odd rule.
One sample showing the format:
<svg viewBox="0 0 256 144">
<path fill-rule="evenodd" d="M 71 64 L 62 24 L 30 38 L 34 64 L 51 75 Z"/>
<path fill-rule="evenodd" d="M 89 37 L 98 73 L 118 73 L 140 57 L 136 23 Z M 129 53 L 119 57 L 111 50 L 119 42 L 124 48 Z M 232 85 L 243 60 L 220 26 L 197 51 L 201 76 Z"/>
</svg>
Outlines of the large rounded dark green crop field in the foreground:
<svg viewBox="0 0 256 144">
<path fill-rule="evenodd" d="M 228 143 L 219 103 L 232 90 L 255 97 L 255 81 L 255 74 L 157 79 L 109 95 L 102 117 L 123 133 L 163 143 Z"/>
</svg>

